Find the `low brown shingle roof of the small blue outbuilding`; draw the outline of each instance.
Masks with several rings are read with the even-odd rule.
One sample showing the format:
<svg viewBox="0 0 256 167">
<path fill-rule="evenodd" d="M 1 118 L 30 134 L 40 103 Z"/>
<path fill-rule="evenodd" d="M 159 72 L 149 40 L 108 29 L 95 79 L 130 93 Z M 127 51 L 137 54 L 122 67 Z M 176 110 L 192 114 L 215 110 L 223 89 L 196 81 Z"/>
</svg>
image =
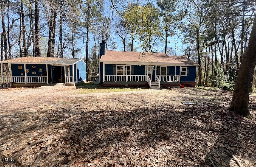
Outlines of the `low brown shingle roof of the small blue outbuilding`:
<svg viewBox="0 0 256 167">
<path fill-rule="evenodd" d="M 63 64 L 63 65 L 72 65 L 77 61 L 82 59 L 72 59 L 72 58 L 55 58 L 55 57 L 21 57 L 16 59 L 10 59 L 1 61 L 1 63 L 10 63 L 10 64 Z"/>
</svg>

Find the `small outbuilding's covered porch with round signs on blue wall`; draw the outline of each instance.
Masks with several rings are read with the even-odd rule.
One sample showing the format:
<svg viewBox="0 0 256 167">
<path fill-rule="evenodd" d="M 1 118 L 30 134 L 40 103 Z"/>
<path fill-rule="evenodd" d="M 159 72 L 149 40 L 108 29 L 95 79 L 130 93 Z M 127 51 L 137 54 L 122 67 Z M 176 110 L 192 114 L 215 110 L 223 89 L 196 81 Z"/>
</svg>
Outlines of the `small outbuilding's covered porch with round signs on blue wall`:
<svg viewBox="0 0 256 167">
<path fill-rule="evenodd" d="M 1 87 L 37 87 L 52 83 L 75 86 L 81 82 L 77 78 L 76 64 L 8 64 L 7 76 L 4 76 L 3 66 L 1 63 Z"/>
</svg>

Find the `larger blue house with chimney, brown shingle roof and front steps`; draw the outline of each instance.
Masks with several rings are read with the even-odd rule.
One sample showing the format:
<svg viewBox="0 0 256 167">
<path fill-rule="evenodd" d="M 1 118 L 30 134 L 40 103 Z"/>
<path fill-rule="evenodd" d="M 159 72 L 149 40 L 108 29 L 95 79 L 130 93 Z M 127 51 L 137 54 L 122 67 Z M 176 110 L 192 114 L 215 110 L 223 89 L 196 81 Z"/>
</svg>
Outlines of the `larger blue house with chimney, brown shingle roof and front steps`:
<svg viewBox="0 0 256 167">
<path fill-rule="evenodd" d="M 185 56 L 106 50 L 100 43 L 100 83 L 103 86 L 195 87 L 199 64 Z"/>
</svg>

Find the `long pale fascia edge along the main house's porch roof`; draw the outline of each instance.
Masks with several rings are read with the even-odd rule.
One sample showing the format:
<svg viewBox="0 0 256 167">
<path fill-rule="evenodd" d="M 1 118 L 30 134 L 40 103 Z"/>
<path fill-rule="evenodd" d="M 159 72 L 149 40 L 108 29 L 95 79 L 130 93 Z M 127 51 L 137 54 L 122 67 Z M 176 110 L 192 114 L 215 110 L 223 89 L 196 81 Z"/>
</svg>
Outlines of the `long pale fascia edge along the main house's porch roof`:
<svg viewBox="0 0 256 167">
<path fill-rule="evenodd" d="M 138 61 L 100 61 L 104 64 L 128 64 L 128 65 L 157 65 L 157 66 L 183 66 L 185 63 L 159 63 L 159 62 L 138 62 Z"/>
</svg>

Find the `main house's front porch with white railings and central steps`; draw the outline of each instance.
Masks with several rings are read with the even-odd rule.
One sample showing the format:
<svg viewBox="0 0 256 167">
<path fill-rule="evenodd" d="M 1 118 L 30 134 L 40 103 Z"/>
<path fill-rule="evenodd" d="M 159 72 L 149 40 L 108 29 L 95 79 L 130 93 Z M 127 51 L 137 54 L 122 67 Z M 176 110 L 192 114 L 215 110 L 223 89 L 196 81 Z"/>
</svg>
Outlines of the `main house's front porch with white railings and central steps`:
<svg viewBox="0 0 256 167">
<path fill-rule="evenodd" d="M 179 86 L 181 66 L 103 64 L 103 86 Z M 106 71 L 106 72 L 105 72 Z M 139 75 L 138 75 L 139 74 Z"/>
</svg>

